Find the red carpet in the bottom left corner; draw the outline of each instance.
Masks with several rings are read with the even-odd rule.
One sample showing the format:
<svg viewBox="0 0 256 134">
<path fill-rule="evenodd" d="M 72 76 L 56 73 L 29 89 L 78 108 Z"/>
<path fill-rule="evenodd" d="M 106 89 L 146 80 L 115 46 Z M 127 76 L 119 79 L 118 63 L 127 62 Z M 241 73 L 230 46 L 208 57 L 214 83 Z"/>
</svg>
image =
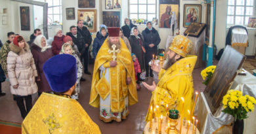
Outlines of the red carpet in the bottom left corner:
<svg viewBox="0 0 256 134">
<path fill-rule="evenodd" d="M 18 134 L 21 133 L 21 124 L 0 120 L 0 131 L 1 134 Z"/>
</svg>

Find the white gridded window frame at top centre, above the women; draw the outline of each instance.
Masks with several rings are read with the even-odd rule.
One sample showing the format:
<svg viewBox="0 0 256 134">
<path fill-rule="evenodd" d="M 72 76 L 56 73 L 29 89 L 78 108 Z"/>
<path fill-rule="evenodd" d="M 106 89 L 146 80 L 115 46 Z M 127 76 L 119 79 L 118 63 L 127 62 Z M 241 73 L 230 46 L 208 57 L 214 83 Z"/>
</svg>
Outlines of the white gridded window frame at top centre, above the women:
<svg viewBox="0 0 256 134">
<path fill-rule="evenodd" d="M 140 0 L 137 0 L 137 4 L 131 4 L 130 1 L 131 1 L 131 0 L 128 1 L 128 17 L 129 17 L 130 19 L 133 19 L 133 18 L 130 17 L 131 14 L 137 14 L 137 19 L 139 19 L 139 14 L 146 14 L 145 20 L 148 20 L 148 14 L 154 14 L 154 15 L 156 16 L 155 18 L 158 17 L 158 8 L 157 8 L 158 3 L 157 3 L 157 0 L 154 0 L 154 1 L 155 1 L 154 4 L 148 3 L 148 0 L 146 0 L 146 3 L 145 3 L 145 4 L 140 4 L 140 3 L 139 3 Z M 137 13 L 131 13 L 130 5 L 138 5 L 138 6 L 137 6 L 138 12 L 137 12 Z M 146 13 L 139 13 L 139 5 L 146 5 Z M 148 13 L 148 5 L 155 5 L 155 13 Z M 149 20 L 148 20 L 148 21 L 149 21 Z M 152 21 L 152 20 L 150 20 L 150 21 Z M 143 24 L 140 24 L 140 25 L 143 25 Z"/>
</svg>

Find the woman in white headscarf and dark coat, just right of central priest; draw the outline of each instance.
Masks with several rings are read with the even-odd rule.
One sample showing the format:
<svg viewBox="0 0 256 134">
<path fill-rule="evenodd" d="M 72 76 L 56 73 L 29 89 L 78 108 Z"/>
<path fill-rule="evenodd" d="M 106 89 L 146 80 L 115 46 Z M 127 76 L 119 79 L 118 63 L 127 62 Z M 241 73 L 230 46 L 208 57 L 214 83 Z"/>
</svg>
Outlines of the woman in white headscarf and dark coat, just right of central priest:
<svg viewBox="0 0 256 134">
<path fill-rule="evenodd" d="M 139 30 L 137 27 L 133 27 L 131 29 L 131 36 L 129 37 L 129 42 L 131 44 L 131 52 L 134 53 L 140 63 L 140 70 L 144 70 L 144 54 L 146 52 L 144 48 L 144 40 L 142 38 L 142 35 L 139 34 Z M 140 78 L 141 73 L 137 73 L 138 82 L 141 82 L 142 79 Z"/>
</svg>

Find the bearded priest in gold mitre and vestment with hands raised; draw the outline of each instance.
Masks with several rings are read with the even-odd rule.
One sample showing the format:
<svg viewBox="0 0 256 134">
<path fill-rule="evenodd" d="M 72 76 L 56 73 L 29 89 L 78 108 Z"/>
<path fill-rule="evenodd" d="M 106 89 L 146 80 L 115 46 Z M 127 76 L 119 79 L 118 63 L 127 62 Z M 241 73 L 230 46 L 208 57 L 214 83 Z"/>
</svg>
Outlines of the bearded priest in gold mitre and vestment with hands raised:
<svg viewBox="0 0 256 134">
<path fill-rule="evenodd" d="M 181 97 L 184 98 L 184 117 L 190 120 L 191 116 L 188 110 L 192 110 L 193 103 L 193 78 L 192 71 L 196 64 L 197 56 L 187 55 L 192 48 L 192 42 L 182 35 L 178 35 L 173 39 L 169 50 L 167 51 L 167 60 L 160 65 L 152 65 L 152 69 L 158 73 L 158 84 L 153 82 L 150 86 L 145 82 L 142 84 L 152 92 L 150 107 L 156 108 L 158 105 L 161 115 L 166 115 L 166 105 L 168 109 L 182 110 Z M 150 120 L 152 110 L 148 109 L 146 121 Z M 156 115 L 156 114 L 154 114 Z"/>
</svg>

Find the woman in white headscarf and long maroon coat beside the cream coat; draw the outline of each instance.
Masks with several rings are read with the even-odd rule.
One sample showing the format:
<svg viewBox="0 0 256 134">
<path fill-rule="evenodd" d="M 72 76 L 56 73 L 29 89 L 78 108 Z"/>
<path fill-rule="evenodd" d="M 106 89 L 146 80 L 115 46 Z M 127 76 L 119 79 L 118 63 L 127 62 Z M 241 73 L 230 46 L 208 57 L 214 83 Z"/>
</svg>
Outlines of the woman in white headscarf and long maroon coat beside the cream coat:
<svg viewBox="0 0 256 134">
<path fill-rule="evenodd" d="M 43 73 L 43 64 L 45 61 L 47 61 L 47 59 L 53 57 L 51 45 L 47 44 L 46 38 L 43 35 L 39 35 L 31 44 L 31 52 L 38 74 L 38 76 L 35 78 L 38 86 L 38 96 L 40 96 L 42 92 L 50 93 L 52 90 L 47 82 L 45 74 Z"/>
</svg>

